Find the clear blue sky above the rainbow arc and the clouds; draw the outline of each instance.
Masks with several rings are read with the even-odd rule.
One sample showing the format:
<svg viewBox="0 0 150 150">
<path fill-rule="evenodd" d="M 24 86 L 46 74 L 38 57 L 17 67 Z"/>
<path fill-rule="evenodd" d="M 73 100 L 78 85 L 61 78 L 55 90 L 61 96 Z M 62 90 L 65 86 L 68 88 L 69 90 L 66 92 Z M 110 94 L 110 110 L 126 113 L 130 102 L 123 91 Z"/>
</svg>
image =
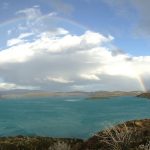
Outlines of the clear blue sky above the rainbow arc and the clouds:
<svg viewBox="0 0 150 150">
<path fill-rule="evenodd" d="M 16 18 L 17 11 L 38 5 L 44 14 L 56 11 L 59 16 L 74 20 L 93 31 L 113 35 L 114 43 L 125 52 L 132 55 L 149 54 L 149 36 L 139 34 L 136 29 L 140 21 L 140 10 L 132 3 L 128 3 L 127 6 L 122 0 L 122 4 L 110 1 L 112 3 L 107 0 L 2 0 L 0 20 L 3 23 Z"/>
</svg>

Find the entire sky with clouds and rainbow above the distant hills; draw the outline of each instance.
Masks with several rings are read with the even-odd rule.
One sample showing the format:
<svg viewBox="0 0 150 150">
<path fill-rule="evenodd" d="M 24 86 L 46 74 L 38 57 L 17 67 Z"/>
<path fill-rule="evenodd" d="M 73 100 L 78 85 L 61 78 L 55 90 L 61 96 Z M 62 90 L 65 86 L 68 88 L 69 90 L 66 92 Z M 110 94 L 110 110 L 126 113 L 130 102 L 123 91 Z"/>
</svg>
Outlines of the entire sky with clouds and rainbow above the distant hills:
<svg viewBox="0 0 150 150">
<path fill-rule="evenodd" d="M 0 90 L 150 89 L 150 1 L 1 0 Z"/>
</svg>

